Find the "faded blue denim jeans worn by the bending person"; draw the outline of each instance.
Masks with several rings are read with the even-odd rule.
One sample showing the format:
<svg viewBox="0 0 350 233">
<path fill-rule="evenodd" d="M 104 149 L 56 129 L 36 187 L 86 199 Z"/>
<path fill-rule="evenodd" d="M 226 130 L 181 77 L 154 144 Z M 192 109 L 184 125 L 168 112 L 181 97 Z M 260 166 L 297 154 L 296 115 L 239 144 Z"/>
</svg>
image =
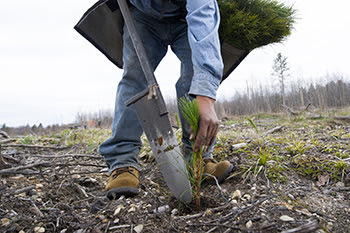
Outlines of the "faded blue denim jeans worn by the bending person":
<svg viewBox="0 0 350 233">
<path fill-rule="evenodd" d="M 175 18 L 158 20 L 136 8 L 131 8 L 131 13 L 153 70 L 157 68 L 170 46 L 181 61 L 181 76 L 176 83 L 177 98 L 188 94 L 193 77 L 193 65 L 187 37 L 187 23 Z M 137 156 L 142 146 L 140 137 L 143 130 L 134 107 L 125 106 L 125 101 L 148 85 L 125 26 L 123 39 L 124 73 L 117 89 L 112 135 L 99 147 L 99 153 L 104 156 L 110 173 L 116 168 L 125 166 L 140 170 Z M 183 128 L 183 150 L 185 157 L 188 158 L 192 150 L 188 139 L 190 127 L 181 115 L 180 119 Z M 213 146 L 203 157 L 211 157 L 212 149 Z"/>
</svg>

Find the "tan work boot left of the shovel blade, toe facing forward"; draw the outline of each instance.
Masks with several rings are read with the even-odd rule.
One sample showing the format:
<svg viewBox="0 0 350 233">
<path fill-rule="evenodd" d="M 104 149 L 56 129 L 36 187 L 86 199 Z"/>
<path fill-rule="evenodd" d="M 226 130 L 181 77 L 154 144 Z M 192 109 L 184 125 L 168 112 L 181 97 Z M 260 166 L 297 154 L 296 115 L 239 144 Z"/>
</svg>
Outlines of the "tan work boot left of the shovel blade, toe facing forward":
<svg viewBox="0 0 350 233">
<path fill-rule="evenodd" d="M 107 197 L 111 200 L 120 196 L 135 196 L 139 193 L 139 171 L 134 167 L 121 167 L 112 172 L 107 185 Z"/>
</svg>

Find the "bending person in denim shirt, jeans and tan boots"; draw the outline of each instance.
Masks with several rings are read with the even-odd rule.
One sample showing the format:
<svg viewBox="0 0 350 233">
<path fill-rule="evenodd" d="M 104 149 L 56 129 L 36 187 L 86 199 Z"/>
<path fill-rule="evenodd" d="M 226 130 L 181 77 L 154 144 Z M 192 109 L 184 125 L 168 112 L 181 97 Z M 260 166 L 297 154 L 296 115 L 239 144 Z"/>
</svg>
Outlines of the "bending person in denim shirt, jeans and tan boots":
<svg viewBox="0 0 350 233">
<path fill-rule="evenodd" d="M 214 175 L 219 182 L 229 175 L 233 165 L 216 162 L 213 148 L 219 120 L 214 110 L 223 62 L 220 53 L 218 27 L 220 13 L 216 0 L 130 0 L 130 11 L 142 38 L 152 68 L 155 70 L 168 47 L 181 61 L 181 74 L 176 83 L 177 98 L 196 98 L 199 106 L 199 130 L 191 147 L 191 129 L 180 114 L 183 128 L 183 153 L 208 148 L 203 154 L 204 173 Z M 138 194 L 140 165 L 137 156 L 142 143 L 142 127 L 133 106 L 125 101 L 147 87 L 129 32 L 123 33 L 123 77 L 119 82 L 115 103 L 112 135 L 99 147 L 110 177 L 106 185 L 108 197 Z M 211 179 L 211 177 L 209 177 Z"/>
</svg>

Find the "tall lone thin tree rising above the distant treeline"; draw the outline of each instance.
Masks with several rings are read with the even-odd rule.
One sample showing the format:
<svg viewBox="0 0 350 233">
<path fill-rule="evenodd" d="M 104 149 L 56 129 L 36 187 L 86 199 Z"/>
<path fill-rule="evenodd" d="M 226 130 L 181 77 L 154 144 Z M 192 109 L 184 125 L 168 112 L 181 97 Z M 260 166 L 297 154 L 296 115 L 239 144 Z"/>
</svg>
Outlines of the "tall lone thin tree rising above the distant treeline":
<svg viewBox="0 0 350 233">
<path fill-rule="evenodd" d="M 282 96 L 282 104 L 286 105 L 285 99 L 285 83 L 286 79 L 289 76 L 289 66 L 287 62 L 287 57 L 282 56 L 281 53 L 277 54 L 277 57 L 273 60 L 272 66 L 272 74 L 277 77 L 280 87 L 281 87 L 281 96 Z"/>
</svg>

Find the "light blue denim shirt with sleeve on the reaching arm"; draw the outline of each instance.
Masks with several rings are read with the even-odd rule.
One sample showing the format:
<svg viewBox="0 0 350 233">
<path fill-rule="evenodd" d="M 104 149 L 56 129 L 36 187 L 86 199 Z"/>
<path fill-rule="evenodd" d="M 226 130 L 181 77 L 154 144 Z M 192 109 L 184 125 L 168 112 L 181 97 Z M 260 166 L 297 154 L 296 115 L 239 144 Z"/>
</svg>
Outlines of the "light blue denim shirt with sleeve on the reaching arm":
<svg viewBox="0 0 350 233">
<path fill-rule="evenodd" d="M 183 0 L 185 1 L 185 0 Z M 181 14 L 170 0 L 130 0 L 139 10 L 155 18 Z M 219 7 L 216 0 L 188 0 L 188 40 L 192 51 L 194 76 L 189 94 L 216 99 L 223 72 L 218 29 Z"/>
</svg>

